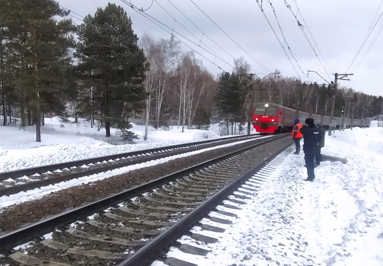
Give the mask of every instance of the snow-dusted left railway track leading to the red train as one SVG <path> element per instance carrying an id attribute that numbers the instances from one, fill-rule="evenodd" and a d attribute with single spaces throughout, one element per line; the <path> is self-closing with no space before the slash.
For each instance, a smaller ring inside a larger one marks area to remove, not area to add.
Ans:
<path id="1" fill-rule="evenodd" d="M 224 139 L 205 140 L 187 144 L 172 145 L 136 152 L 120 153 L 85 160 L 54 165 L 26 168 L 0 173 L 0 194 L 11 195 L 82 176 L 93 175 L 119 167 L 145 163 L 182 153 L 193 152 L 246 139 L 256 139 L 260 135 L 235 136 Z"/>

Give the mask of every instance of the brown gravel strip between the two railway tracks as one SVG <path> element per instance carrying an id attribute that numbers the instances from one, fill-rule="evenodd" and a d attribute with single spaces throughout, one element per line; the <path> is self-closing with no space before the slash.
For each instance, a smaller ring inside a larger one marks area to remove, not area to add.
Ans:
<path id="1" fill-rule="evenodd" d="M 282 145 L 291 141 L 289 139 L 290 138 L 283 138 L 272 143 L 277 144 L 278 147 L 282 147 Z M 265 139 L 255 139 L 243 144 L 210 150 L 190 157 L 175 159 L 167 163 L 133 170 L 93 183 L 63 189 L 38 200 L 10 206 L 2 210 L 0 230 L 1 232 L 14 230 L 27 223 L 39 221 L 49 215 L 59 214 L 69 208 L 78 207 L 84 203 L 95 201 L 113 193 L 118 193 L 123 189 L 154 180 L 160 176 L 169 175 L 175 171 L 244 149 L 263 141 L 265 141 Z M 273 146 L 275 144 L 273 144 Z"/>

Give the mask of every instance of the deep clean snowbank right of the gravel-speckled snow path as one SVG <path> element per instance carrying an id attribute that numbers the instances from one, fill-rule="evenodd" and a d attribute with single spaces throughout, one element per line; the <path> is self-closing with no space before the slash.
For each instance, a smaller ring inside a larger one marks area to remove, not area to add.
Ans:
<path id="1" fill-rule="evenodd" d="M 309 250 L 322 265 L 383 265 L 383 128 L 336 131 L 322 153 L 348 163 L 322 163 L 301 191 Z"/>

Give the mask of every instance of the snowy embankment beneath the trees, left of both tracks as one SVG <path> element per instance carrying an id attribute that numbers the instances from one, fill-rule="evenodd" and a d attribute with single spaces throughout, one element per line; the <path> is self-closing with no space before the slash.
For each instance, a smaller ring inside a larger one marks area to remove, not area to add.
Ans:
<path id="1" fill-rule="evenodd" d="M 136 143 L 112 145 L 119 143 L 115 129 L 111 129 L 112 137 L 106 138 L 105 129 L 97 131 L 97 125 L 91 128 L 90 122 L 83 119 L 75 124 L 62 123 L 53 117 L 46 118 L 45 123 L 41 127 L 41 143 L 35 142 L 34 126 L 25 130 L 18 126 L 0 127 L 0 172 L 220 138 L 210 131 L 181 132 L 177 127 L 164 131 L 149 127 L 145 141 L 144 127 L 133 124 L 131 131 L 139 137 Z"/>

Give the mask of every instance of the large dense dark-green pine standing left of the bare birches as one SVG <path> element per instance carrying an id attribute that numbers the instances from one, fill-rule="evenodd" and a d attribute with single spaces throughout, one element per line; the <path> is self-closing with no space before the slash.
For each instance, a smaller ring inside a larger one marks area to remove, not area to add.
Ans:
<path id="1" fill-rule="evenodd" d="M 124 132 L 130 127 L 128 118 L 145 99 L 142 82 L 149 65 L 131 25 L 123 8 L 109 3 L 79 26 L 77 71 L 94 88 L 93 107 L 105 122 L 106 137 L 111 124 L 129 135 Z"/>

